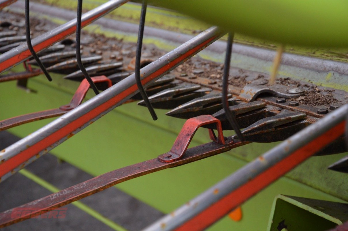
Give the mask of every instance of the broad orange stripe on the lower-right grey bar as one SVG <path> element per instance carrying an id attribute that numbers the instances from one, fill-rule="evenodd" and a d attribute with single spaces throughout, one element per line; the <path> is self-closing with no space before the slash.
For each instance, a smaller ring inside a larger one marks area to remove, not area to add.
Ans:
<path id="1" fill-rule="evenodd" d="M 223 197 L 175 231 L 204 230 L 344 133 L 345 121 Z"/>

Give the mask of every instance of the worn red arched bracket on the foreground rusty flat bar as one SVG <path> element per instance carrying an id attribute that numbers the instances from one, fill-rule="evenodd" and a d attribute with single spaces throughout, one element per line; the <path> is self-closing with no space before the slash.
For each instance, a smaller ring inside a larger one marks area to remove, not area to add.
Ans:
<path id="1" fill-rule="evenodd" d="M 221 121 L 211 115 L 201 115 L 190 118 L 187 120 L 177 136 L 171 151 L 161 154 L 158 156 L 158 160 L 161 162 L 173 162 L 181 159 L 185 154 L 193 135 L 197 129 L 206 124 L 216 123 L 216 129 L 218 136 L 216 138 L 215 133 L 212 129 L 209 129 L 209 137 L 216 143 L 225 145 L 225 140 L 222 133 Z"/>

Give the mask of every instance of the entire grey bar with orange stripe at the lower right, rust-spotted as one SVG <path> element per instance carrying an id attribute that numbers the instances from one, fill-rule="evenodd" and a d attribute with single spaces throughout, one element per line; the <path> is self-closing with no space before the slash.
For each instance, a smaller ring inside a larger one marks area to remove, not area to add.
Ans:
<path id="1" fill-rule="evenodd" d="M 348 104 L 248 163 L 143 231 L 204 230 L 344 133 Z"/>

